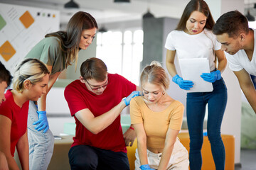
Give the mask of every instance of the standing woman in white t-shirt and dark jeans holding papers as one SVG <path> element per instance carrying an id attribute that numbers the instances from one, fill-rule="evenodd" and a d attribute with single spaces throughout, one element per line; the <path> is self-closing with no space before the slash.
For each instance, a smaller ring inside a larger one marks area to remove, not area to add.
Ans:
<path id="1" fill-rule="evenodd" d="M 193 82 L 183 80 L 176 72 L 174 58 L 178 59 L 206 58 L 210 73 L 202 73 L 201 78 L 213 84 L 213 91 L 187 93 L 186 115 L 190 136 L 189 161 L 190 169 L 201 169 L 201 148 L 203 145 L 203 120 L 208 103 L 208 139 L 216 169 L 225 167 L 225 148 L 220 136 L 220 127 L 227 103 L 227 89 L 221 77 L 227 60 L 220 50 L 212 33 L 214 25 L 210 9 L 203 0 L 191 0 L 183 11 L 176 30 L 171 31 L 166 39 L 166 67 L 173 81 L 181 89 L 189 90 Z M 218 67 L 216 65 L 216 58 Z"/>

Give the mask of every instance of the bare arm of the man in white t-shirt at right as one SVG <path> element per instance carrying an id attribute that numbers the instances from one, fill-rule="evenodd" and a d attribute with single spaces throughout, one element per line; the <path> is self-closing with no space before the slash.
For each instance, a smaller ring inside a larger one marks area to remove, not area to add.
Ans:
<path id="1" fill-rule="evenodd" d="M 253 111 L 256 113 L 256 91 L 252 84 L 250 75 L 245 71 L 245 69 L 239 72 L 234 72 L 235 76 L 238 78 L 240 87 L 247 98 L 247 101 L 252 106 Z"/>

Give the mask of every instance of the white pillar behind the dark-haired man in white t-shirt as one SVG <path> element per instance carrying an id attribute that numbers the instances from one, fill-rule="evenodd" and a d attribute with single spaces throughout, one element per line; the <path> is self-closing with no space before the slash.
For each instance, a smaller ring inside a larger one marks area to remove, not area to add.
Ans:
<path id="1" fill-rule="evenodd" d="M 206 0 L 215 21 L 228 11 L 238 10 L 244 13 L 244 0 Z M 228 88 L 228 103 L 223 118 L 221 132 L 235 136 L 235 163 L 240 163 L 241 137 L 241 90 L 235 74 L 227 68 L 223 79 Z"/>

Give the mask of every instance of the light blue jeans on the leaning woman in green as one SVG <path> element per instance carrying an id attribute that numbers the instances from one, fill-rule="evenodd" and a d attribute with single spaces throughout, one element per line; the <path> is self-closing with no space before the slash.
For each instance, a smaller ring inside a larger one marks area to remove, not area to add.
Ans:
<path id="1" fill-rule="evenodd" d="M 28 145 L 29 169 L 46 170 L 53 155 L 54 137 L 50 130 L 35 130 L 34 122 L 38 120 L 37 108 L 33 101 L 29 101 L 28 109 Z"/>

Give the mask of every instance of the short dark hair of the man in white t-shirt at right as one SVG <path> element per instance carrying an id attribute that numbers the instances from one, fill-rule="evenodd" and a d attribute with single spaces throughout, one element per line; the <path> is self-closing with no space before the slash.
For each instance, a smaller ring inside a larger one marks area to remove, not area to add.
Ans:
<path id="1" fill-rule="evenodd" d="M 249 33 L 247 18 L 238 10 L 224 13 L 213 26 L 215 35 L 227 33 L 230 38 L 237 38 L 240 33 Z"/>

